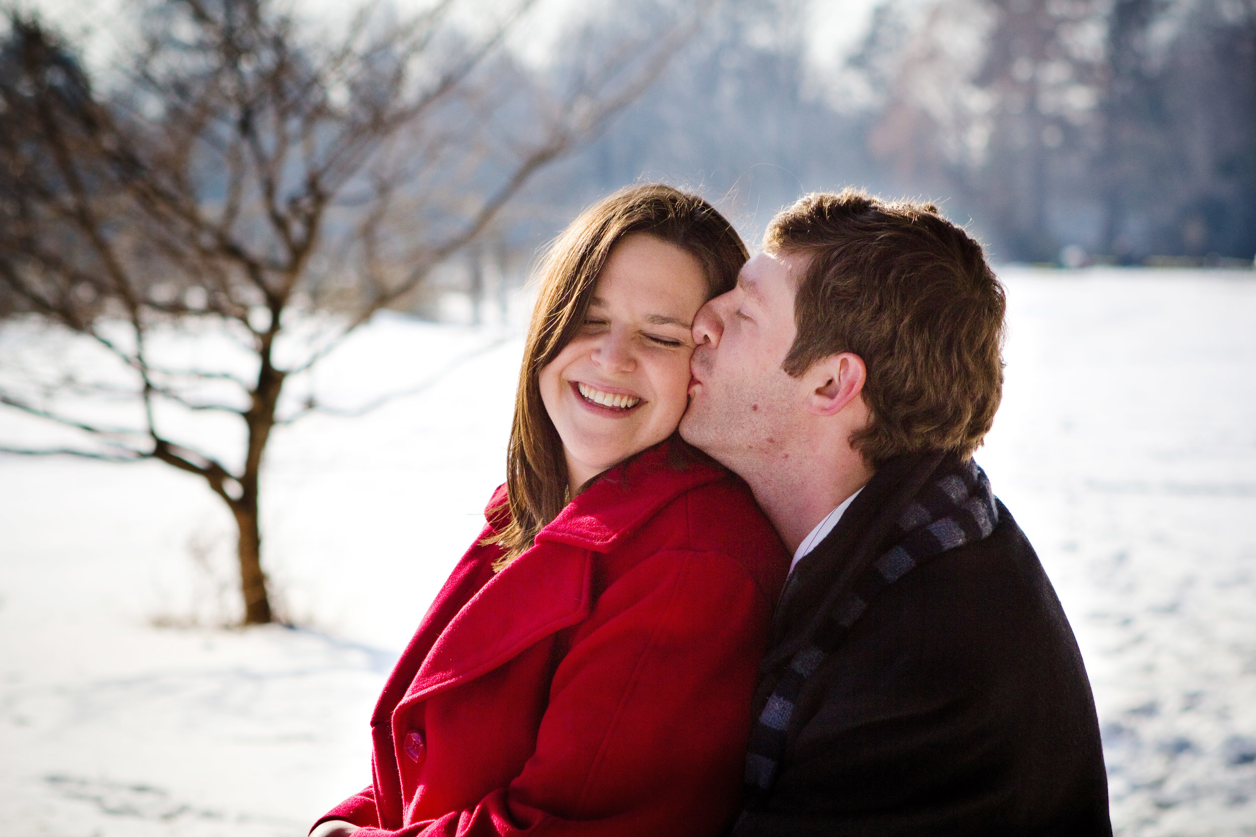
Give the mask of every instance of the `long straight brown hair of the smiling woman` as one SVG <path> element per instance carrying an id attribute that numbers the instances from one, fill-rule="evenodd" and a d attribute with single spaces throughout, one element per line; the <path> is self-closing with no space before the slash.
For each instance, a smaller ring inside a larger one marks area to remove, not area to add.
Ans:
<path id="1" fill-rule="evenodd" d="M 495 570 L 530 548 L 536 533 L 569 499 L 563 440 L 545 412 L 538 380 L 541 369 L 580 330 L 612 248 L 634 232 L 693 256 L 706 274 L 707 299 L 731 290 L 749 257 L 737 231 L 713 206 L 661 183 L 619 189 L 582 212 L 554 241 L 539 271 L 540 294 L 519 369 L 506 453 L 510 522 L 486 540 L 505 550 L 494 562 Z"/>

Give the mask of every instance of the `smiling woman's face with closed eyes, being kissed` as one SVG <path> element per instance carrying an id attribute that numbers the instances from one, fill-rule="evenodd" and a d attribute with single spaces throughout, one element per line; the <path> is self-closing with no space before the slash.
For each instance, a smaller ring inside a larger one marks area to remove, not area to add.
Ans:
<path id="1" fill-rule="evenodd" d="M 573 488 L 676 429 L 706 297 L 701 264 L 676 245 L 634 232 L 610 251 L 584 325 L 539 380 Z"/>

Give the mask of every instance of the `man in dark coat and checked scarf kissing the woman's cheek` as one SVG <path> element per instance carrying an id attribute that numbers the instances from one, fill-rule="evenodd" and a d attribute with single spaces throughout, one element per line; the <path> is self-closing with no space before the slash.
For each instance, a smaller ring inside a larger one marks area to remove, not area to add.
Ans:
<path id="1" fill-rule="evenodd" d="M 681 434 L 795 562 L 735 834 L 1110 834 L 1076 642 L 971 458 L 1002 390 L 980 245 L 932 206 L 810 195 L 693 336 Z"/>

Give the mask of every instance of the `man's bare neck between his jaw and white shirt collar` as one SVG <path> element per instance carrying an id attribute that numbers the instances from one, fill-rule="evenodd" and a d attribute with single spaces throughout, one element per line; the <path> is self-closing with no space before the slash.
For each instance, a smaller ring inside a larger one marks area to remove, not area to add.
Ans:
<path id="1" fill-rule="evenodd" d="M 790 552 L 829 512 L 868 484 L 874 473 L 863 457 L 849 449 L 838 457 L 794 461 L 798 464 L 793 468 L 775 466 L 741 473 Z"/>

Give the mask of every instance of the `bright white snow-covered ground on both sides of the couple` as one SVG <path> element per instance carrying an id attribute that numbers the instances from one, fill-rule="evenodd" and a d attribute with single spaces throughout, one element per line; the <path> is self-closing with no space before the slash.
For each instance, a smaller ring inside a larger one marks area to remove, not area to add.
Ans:
<path id="1" fill-rule="evenodd" d="M 1004 271 L 978 462 L 1094 684 L 1117 831 L 1256 834 L 1256 275 Z M 158 463 L 0 457 L 0 833 L 300 837 L 369 779 L 392 660 L 504 473 L 517 339 L 388 317 L 279 434 L 266 560 L 300 629 L 221 630 L 230 530 Z M 29 339 L 0 329 L 0 368 Z M 0 439 L 15 432 L 0 412 Z"/>

